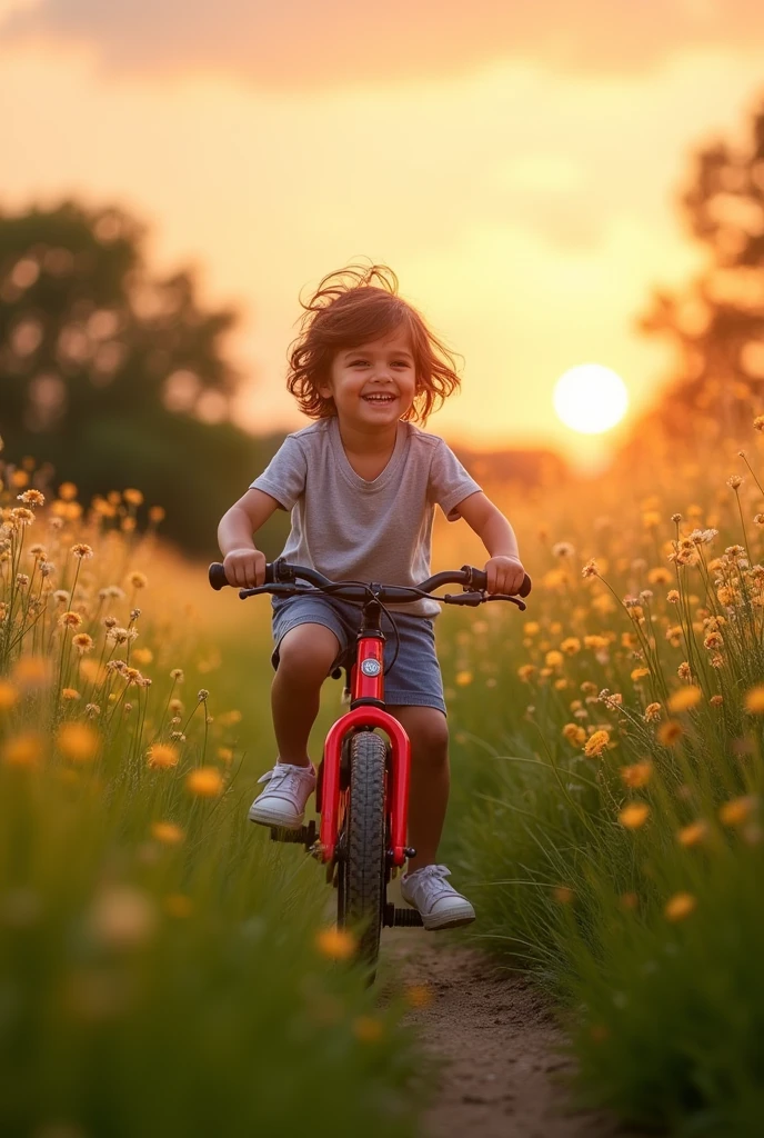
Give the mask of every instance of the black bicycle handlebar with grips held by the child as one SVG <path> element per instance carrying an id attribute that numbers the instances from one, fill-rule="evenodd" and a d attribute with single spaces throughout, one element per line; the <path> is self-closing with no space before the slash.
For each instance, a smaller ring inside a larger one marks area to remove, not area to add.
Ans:
<path id="1" fill-rule="evenodd" d="M 525 574 L 517 596 L 508 596 L 504 593 L 485 594 L 488 574 L 483 569 L 476 569 L 474 566 L 462 566 L 460 569 L 448 569 L 443 572 L 437 572 L 432 577 L 427 577 L 421 585 L 415 585 L 410 588 L 400 585 L 381 585 L 375 582 L 371 582 L 368 585 L 360 582 L 333 582 L 329 577 L 324 577 L 316 569 L 307 566 L 290 564 L 288 561 L 279 559 L 277 561 L 269 561 L 266 564 L 265 584 L 258 585 L 256 588 L 240 588 L 239 596 L 243 601 L 246 597 L 254 596 L 257 593 L 271 593 L 275 596 L 293 596 L 298 593 L 310 592 L 312 589 L 302 588 L 297 584 L 298 578 L 308 582 L 309 585 L 321 592 L 330 593 L 340 600 L 348 601 L 367 600 L 371 588 L 374 595 L 383 603 L 385 601 L 388 603 L 418 601 L 423 594 L 432 594 L 433 589 L 440 588 L 441 585 L 455 584 L 462 585 L 464 592 L 460 594 L 446 593 L 443 596 L 433 597 L 433 600 L 442 601 L 446 604 L 468 605 L 482 604 L 484 601 L 512 601 L 521 610 L 525 609 L 525 604 L 520 597 L 528 596 L 532 587 L 531 578 Z M 225 588 L 229 584 L 225 569 L 219 561 L 214 561 L 209 567 L 209 584 L 216 591 Z"/>

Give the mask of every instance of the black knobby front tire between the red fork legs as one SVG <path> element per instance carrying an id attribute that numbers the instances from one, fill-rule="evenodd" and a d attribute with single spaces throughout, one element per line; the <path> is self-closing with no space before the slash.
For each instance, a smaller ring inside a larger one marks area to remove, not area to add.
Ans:
<path id="1" fill-rule="evenodd" d="M 350 787 L 340 865 L 338 925 L 358 935 L 358 957 L 374 968 L 380 954 L 385 887 L 384 774 L 387 744 L 363 731 L 350 742 Z"/>

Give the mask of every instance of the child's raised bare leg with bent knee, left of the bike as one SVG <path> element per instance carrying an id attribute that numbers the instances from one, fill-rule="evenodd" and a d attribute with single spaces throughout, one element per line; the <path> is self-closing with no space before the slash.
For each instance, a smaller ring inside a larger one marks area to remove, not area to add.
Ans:
<path id="1" fill-rule="evenodd" d="M 280 762 L 309 766 L 308 735 L 318 715 L 322 684 L 339 651 L 337 636 L 324 625 L 297 625 L 282 637 L 271 688 Z"/>

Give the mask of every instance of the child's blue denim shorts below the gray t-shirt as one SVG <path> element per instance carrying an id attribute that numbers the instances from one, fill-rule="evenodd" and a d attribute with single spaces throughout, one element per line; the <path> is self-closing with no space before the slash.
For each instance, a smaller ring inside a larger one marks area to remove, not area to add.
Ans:
<path id="1" fill-rule="evenodd" d="M 282 637 L 298 625 L 324 625 L 340 642 L 340 651 L 330 671 L 338 667 L 349 667 L 356 657 L 356 636 L 360 627 L 363 609 L 360 603 L 339 601 L 324 596 L 274 596 L 273 640 L 275 648 L 271 662 L 279 666 L 279 645 Z M 384 643 L 384 702 L 391 706 L 438 708 L 446 715 L 443 681 L 435 654 L 435 629 L 432 617 L 418 617 L 410 612 L 390 613 L 396 622 L 400 645 L 396 661 L 390 662 L 396 651 L 396 634 L 390 619 L 382 613 L 381 628 Z"/>

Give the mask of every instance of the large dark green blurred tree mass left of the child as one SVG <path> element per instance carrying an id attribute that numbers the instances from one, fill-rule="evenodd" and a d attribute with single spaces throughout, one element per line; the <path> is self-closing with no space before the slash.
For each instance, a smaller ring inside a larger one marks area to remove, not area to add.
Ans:
<path id="1" fill-rule="evenodd" d="M 241 377 L 222 340 L 236 314 L 202 308 L 189 271 L 151 275 L 143 238 L 111 207 L 0 214 L 5 457 L 45 462 L 85 498 L 136 487 L 165 506 L 169 537 L 207 555 L 280 436 L 230 421 Z"/>

